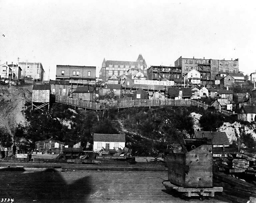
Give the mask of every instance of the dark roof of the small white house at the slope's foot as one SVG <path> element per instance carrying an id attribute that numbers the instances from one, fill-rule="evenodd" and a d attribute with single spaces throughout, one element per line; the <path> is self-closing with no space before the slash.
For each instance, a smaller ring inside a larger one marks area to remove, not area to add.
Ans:
<path id="1" fill-rule="evenodd" d="M 93 141 L 94 142 L 125 142 L 125 135 L 124 134 L 93 134 Z"/>

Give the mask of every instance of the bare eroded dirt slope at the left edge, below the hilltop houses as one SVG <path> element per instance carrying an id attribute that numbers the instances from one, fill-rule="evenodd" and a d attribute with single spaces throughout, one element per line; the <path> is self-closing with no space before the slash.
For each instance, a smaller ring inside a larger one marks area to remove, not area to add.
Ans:
<path id="1" fill-rule="evenodd" d="M 0 132 L 13 137 L 18 124 L 27 125 L 23 110 L 32 99 L 32 85 L 0 85 Z"/>

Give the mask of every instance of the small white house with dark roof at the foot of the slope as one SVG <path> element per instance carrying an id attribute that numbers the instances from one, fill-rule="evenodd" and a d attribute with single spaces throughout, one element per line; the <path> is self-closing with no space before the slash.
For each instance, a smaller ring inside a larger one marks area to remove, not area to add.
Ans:
<path id="1" fill-rule="evenodd" d="M 93 134 L 93 151 L 125 147 L 124 134 Z"/>

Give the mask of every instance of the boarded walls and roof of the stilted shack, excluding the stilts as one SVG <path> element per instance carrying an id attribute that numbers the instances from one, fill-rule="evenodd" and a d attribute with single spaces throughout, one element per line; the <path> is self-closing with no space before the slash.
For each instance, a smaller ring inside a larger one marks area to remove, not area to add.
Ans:
<path id="1" fill-rule="evenodd" d="M 50 85 L 33 85 L 32 102 L 46 103 L 50 101 Z"/>

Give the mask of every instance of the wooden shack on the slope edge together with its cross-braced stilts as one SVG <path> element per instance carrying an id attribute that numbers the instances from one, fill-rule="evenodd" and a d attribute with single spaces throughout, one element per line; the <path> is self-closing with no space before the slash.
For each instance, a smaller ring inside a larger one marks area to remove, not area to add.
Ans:
<path id="1" fill-rule="evenodd" d="M 50 85 L 33 85 L 32 88 L 32 110 L 40 109 L 43 111 L 42 107 L 48 105 L 50 102 Z"/>

